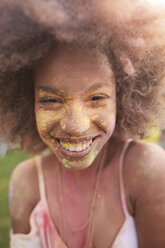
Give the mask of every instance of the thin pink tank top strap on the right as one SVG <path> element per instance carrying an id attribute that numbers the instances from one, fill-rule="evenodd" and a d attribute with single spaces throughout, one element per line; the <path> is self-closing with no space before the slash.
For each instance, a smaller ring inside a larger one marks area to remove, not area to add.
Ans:
<path id="1" fill-rule="evenodd" d="M 129 144 L 131 143 L 132 139 L 128 139 L 123 146 L 120 158 L 119 158 L 119 184 L 120 184 L 120 197 L 121 197 L 121 203 L 122 208 L 124 211 L 125 216 L 128 216 L 128 209 L 127 209 L 127 203 L 126 203 L 126 194 L 125 194 L 125 188 L 124 188 L 124 182 L 123 182 L 123 161 L 125 154 L 127 152 L 127 149 L 129 147 Z"/>

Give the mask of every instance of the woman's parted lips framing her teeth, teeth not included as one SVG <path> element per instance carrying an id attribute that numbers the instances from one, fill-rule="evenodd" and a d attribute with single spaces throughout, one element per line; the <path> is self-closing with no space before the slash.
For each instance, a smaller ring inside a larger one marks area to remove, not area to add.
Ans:
<path id="1" fill-rule="evenodd" d="M 60 145 L 60 143 L 57 141 L 57 139 L 55 139 L 55 143 L 56 143 L 56 145 L 57 145 L 57 147 L 59 148 L 59 150 L 60 150 L 60 152 L 63 154 L 63 155 L 65 155 L 65 156 L 68 156 L 68 157 L 71 157 L 71 158 L 82 158 L 82 157 L 84 157 L 84 156 L 87 156 L 90 152 L 91 152 L 91 150 L 93 149 L 93 147 L 94 147 L 94 145 L 95 145 L 95 143 L 96 143 L 96 141 L 97 141 L 97 139 L 100 137 L 100 135 L 98 135 L 98 136 L 95 136 L 94 138 L 93 138 L 93 141 L 92 141 L 92 144 L 87 148 L 87 149 L 85 149 L 84 151 L 79 151 L 79 152 L 71 152 L 71 151 L 68 151 L 68 150 L 66 150 L 66 149 L 64 149 L 61 145 Z M 63 141 L 62 139 L 60 139 L 61 141 Z M 71 140 L 71 139 L 69 139 L 70 141 L 72 141 L 72 143 L 78 143 L 78 142 L 73 142 L 73 140 Z M 82 140 L 82 139 L 81 139 Z M 91 140 L 91 139 L 85 139 L 85 141 L 89 141 L 89 140 Z M 65 141 L 66 141 L 66 139 L 65 139 Z M 79 139 L 79 142 L 80 142 L 80 139 Z M 83 143 L 83 142 L 82 142 Z"/>

